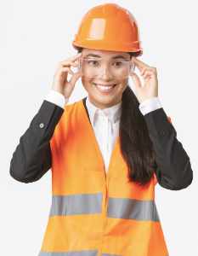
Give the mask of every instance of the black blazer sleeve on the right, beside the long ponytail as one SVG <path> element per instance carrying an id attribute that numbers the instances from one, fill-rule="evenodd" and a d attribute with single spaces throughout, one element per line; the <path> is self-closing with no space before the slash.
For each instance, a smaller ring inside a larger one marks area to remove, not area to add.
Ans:
<path id="1" fill-rule="evenodd" d="M 184 189 L 192 183 L 190 157 L 178 141 L 177 131 L 163 108 L 144 115 L 156 156 L 157 182 L 165 189 Z"/>

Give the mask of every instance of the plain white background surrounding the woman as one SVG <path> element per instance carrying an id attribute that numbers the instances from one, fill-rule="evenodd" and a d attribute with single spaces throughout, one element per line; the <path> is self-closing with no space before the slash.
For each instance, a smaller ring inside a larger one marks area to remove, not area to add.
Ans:
<path id="1" fill-rule="evenodd" d="M 71 42 L 82 16 L 105 1 L 1 1 L 0 9 L 0 254 L 36 256 L 48 222 L 51 172 L 35 183 L 9 176 L 20 136 L 51 89 L 59 61 L 76 55 Z M 170 256 L 198 255 L 197 6 L 196 1 L 111 1 L 139 24 L 141 61 L 157 68 L 159 97 L 190 156 L 193 183 L 156 186 L 156 205 Z M 133 83 L 132 80 L 129 80 Z M 78 80 L 70 102 L 86 96 Z M 150 255 L 151 256 L 151 255 Z M 159 255 L 160 256 L 160 255 Z"/>

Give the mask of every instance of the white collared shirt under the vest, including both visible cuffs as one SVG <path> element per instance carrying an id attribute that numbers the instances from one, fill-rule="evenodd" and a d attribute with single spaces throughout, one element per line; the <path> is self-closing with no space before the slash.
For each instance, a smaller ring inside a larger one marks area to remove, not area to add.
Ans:
<path id="1" fill-rule="evenodd" d="M 50 90 L 44 99 L 48 102 L 53 102 L 60 108 L 64 108 L 65 104 L 69 102 L 69 99 L 65 99 L 65 96 L 56 90 Z M 90 102 L 89 97 L 86 99 L 91 125 L 103 156 L 105 172 L 108 171 L 110 155 L 114 148 L 116 137 L 119 134 L 121 104 L 122 102 L 119 102 L 110 108 L 99 109 Z M 150 98 L 139 104 L 139 110 L 143 115 L 157 108 L 161 108 L 161 102 L 158 97 Z"/>

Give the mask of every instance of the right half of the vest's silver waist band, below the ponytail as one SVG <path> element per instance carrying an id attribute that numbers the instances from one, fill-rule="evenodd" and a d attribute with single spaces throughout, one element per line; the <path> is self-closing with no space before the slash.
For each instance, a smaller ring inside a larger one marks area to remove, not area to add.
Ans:
<path id="1" fill-rule="evenodd" d="M 107 216 L 109 218 L 160 221 L 155 201 L 139 201 L 127 198 L 110 197 Z"/>

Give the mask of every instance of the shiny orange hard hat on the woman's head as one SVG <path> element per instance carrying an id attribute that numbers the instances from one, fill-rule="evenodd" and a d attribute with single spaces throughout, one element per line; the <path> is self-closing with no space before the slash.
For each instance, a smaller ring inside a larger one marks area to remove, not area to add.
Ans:
<path id="1" fill-rule="evenodd" d="M 106 49 L 142 55 L 139 29 L 133 15 L 116 3 L 93 7 L 82 18 L 72 42 L 75 49 Z"/>

